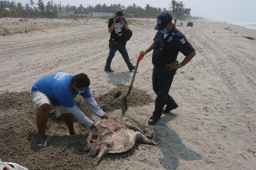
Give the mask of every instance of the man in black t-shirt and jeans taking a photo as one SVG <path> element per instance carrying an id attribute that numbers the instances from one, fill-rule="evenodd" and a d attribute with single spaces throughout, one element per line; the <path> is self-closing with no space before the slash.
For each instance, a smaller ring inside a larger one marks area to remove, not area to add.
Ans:
<path id="1" fill-rule="evenodd" d="M 122 11 L 118 11 L 116 12 L 116 17 L 111 18 L 108 22 L 108 32 L 111 34 L 109 39 L 109 54 L 105 65 L 105 71 L 113 72 L 110 66 L 117 50 L 122 54 L 129 71 L 135 69 L 135 66 L 130 62 L 128 52 L 125 48 L 126 44 L 122 40 L 123 29 L 129 30 L 129 27 L 125 21 L 125 18 L 123 17 Z"/>

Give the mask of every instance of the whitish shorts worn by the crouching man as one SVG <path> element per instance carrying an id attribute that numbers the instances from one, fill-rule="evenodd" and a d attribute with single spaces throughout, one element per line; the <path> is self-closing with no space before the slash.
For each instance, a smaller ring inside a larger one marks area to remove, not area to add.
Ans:
<path id="1" fill-rule="evenodd" d="M 65 113 L 69 113 L 69 111 L 64 106 L 53 106 L 51 99 L 41 91 L 35 91 L 34 93 L 31 94 L 31 96 L 33 99 L 33 106 L 34 106 L 35 110 L 38 110 L 38 108 L 41 105 L 46 103 L 46 104 L 50 105 L 50 107 L 52 109 L 54 109 L 56 117 L 59 117 Z"/>

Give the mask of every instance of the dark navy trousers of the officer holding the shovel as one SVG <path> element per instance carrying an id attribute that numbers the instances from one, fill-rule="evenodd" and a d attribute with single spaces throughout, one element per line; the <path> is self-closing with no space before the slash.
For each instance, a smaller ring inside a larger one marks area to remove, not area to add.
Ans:
<path id="1" fill-rule="evenodd" d="M 155 100 L 155 109 L 153 112 L 153 116 L 155 118 L 162 116 L 165 105 L 172 105 L 175 103 L 172 96 L 168 94 L 175 74 L 176 70 L 170 71 L 166 67 L 153 69 L 152 84 L 153 90 L 155 94 L 157 94 Z"/>

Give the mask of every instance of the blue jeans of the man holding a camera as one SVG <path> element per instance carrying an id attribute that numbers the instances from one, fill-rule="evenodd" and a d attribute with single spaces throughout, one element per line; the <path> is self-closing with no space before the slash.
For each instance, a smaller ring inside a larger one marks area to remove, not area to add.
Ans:
<path id="1" fill-rule="evenodd" d="M 127 64 L 128 69 L 133 68 L 133 65 L 131 64 L 128 56 L 128 52 L 125 48 L 125 44 L 122 42 L 109 42 L 109 54 L 108 54 L 105 68 L 110 68 L 112 59 L 114 58 L 116 51 L 119 51 L 122 54 L 122 57 L 125 60 L 125 63 Z"/>

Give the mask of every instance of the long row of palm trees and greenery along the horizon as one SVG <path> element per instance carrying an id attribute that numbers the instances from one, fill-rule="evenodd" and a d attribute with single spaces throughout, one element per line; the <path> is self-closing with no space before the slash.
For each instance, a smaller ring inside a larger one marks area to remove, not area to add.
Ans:
<path id="1" fill-rule="evenodd" d="M 0 15 L 18 15 L 18 14 L 37 14 L 37 15 L 52 15 L 57 16 L 58 12 L 68 13 L 73 11 L 74 14 L 89 14 L 90 12 L 108 12 L 116 13 L 116 11 L 123 11 L 125 17 L 141 17 L 141 18 L 156 18 L 158 14 L 163 11 L 170 12 L 173 17 L 176 17 L 180 20 L 191 19 L 190 8 L 185 8 L 183 1 L 172 0 L 169 4 L 169 8 L 157 8 L 152 7 L 148 4 L 143 8 L 137 6 L 135 3 L 129 6 L 124 6 L 119 4 L 111 4 L 107 6 L 104 4 L 97 4 L 95 6 L 88 5 L 84 7 L 83 4 L 77 6 L 60 6 L 60 4 L 55 4 L 51 1 L 48 1 L 46 4 L 43 0 L 38 0 L 35 3 L 33 0 L 28 0 L 29 3 L 26 3 L 24 6 L 21 3 L 15 3 L 15 1 L 9 0 L 0 0 Z M 75 17 L 75 16 L 74 16 Z M 76 16 L 78 17 L 78 15 Z M 193 18 L 197 19 L 197 18 Z"/>

